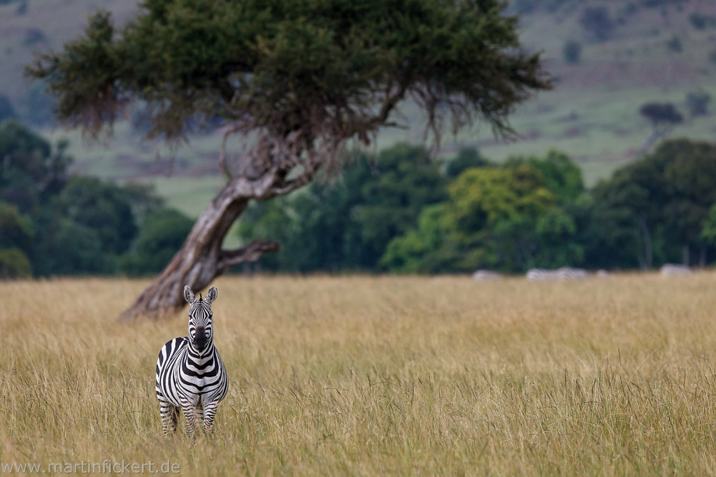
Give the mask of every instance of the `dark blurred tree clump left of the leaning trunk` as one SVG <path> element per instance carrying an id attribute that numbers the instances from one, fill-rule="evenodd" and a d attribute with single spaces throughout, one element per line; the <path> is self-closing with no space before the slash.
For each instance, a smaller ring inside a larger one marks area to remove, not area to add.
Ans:
<path id="1" fill-rule="evenodd" d="M 0 123 L 0 277 L 160 271 L 193 221 L 145 186 L 69 174 L 66 148 Z"/>

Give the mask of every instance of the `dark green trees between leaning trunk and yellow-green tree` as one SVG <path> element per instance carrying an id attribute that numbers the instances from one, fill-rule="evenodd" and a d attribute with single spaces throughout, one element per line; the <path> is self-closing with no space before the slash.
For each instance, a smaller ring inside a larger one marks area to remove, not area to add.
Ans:
<path id="1" fill-rule="evenodd" d="M 359 155 L 334 183 L 254 204 L 239 233 L 281 243 L 278 254 L 261 259 L 267 269 L 374 270 L 388 242 L 424 206 L 445 198 L 445 184 L 425 148 L 396 145 L 377 157 Z"/>

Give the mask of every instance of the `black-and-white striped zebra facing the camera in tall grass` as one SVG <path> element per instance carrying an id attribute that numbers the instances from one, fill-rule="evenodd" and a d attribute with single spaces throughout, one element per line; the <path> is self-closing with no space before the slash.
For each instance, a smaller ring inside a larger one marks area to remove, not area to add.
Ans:
<path id="1" fill-rule="evenodd" d="M 213 434 L 218 403 L 226 396 L 226 368 L 213 344 L 211 303 L 216 286 L 206 298 L 197 299 L 189 286 L 184 298 L 189 302 L 189 335 L 166 342 L 157 359 L 157 399 L 164 435 L 176 430 L 179 410 L 183 410 L 186 433 L 194 440 L 194 420 L 203 420 L 205 433 Z"/>

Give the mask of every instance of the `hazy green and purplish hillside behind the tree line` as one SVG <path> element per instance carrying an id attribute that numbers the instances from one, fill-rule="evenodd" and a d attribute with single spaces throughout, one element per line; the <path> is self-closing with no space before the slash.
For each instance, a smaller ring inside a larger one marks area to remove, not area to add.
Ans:
<path id="1" fill-rule="evenodd" d="M 587 183 L 594 184 L 639 155 L 651 130 L 639 115 L 645 102 L 673 102 L 682 112 L 685 121 L 670 137 L 711 140 L 716 133 L 712 114 L 692 117 L 685 100 L 696 91 L 716 97 L 716 2 L 615 3 L 514 1 L 511 9 L 522 12 L 523 42 L 544 52 L 556 87 L 516 110 L 516 138 L 496 140 L 489 128 L 476 125 L 457 138 L 445 138 L 442 155 L 474 145 L 487 157 L 502 160 L 557 148 L 571 155 Z M 54 140 L 69 138 L 77 170 L 116 180 L 149 180 L 170 203 L 195 215 L 221 186 L 216 175 L 220 133 L 191 138 L 190 145 L 168 150 L 142 141 L 130 122 L 123 122 L 105 145 L 85 145 L 78 133 L 52 127 L 41 85 L 30 84 L 22 75 L 34 52 L 61 48 L 82 32 L 87 15 L 97 8 L 112 11 L 117 22 L 137 10 L 133 2 L 121 0 L 0 1 L 0 95 L 9 98 L 21 120 Z M 589 23 L 587 9 L 592 9 L 591 29 L 584 26 Z M 606 12 L 606 23 L 594 19 L 598 9 Z M 570 41 L 580 50 L 576 57 L 573 52 L 572 62 L 563 52 Z M 379 147 L 422 140 L 419 112 L 410 104 L 402 112 L 409 127 L 385 130 Z M 175 177 L 168 178 L 169 173 Z"/>

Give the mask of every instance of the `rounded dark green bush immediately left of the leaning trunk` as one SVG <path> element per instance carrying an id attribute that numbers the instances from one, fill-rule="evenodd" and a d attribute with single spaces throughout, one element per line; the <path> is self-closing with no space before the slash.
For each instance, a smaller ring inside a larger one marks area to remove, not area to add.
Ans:
<path id="1" fill-rule="evenodd" d="M 120 259 L 120 270 L 127 275 L 156 274 L 181 248 L 194 221 L 172 208 L 159 208 L 148 214 L 130 253 Z"/>

